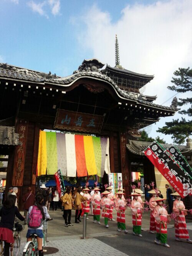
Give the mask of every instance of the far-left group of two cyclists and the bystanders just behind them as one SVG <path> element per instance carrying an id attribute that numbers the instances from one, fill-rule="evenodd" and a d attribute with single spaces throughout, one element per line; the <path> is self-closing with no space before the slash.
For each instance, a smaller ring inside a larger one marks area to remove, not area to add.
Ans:
<path id="1" fill-rule="evenodd" d="M 3 255 L 10 255 L 10 244 L 14 243 L 13 227 L 16 216 L 20 221 L 24 221 L 24 224 L 28 224 L 27 242 L 32 240 L 33 234 L 37 235 L 38 255 L 43 256 L 43 221 L 50 219 L 48 209 L 45 206 L 45 204 L 48 206 L 49 198 L 45 197 L 43 190 L 37 191 L 36 196 L 34 196 L 31 188 L 28 188 L 27 193 L 22 198 L 24 203 L 24 215 L 22 216 L 17 207 L 17 193 L 18 188 L 10 187 L 0 209 L 0 240 L 4 241 Z"/>

